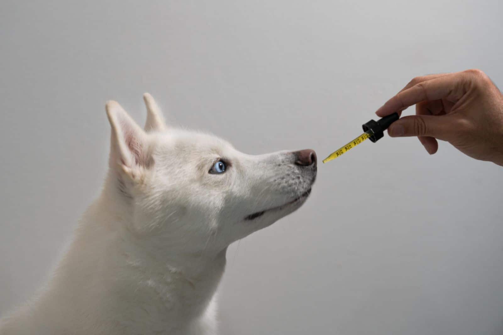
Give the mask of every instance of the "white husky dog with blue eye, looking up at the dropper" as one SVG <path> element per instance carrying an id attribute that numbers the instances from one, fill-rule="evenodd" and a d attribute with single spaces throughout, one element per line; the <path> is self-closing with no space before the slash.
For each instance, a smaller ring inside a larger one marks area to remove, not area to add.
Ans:
<path id="1" fill-rule="evenodd" d="M 144 130 L 115 101 L 109 173 L 47 285 L 0 334 L 215 334 L 227 246 L 292 213 L 313 150 L 247 155 L 167 128 L 144 95 Z"/>

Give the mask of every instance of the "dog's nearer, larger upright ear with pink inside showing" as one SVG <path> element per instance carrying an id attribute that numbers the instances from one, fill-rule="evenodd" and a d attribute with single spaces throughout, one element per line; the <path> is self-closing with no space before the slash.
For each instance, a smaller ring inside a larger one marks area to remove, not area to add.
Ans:
<path id="1" fill-rule="evenodd" d="M 147 150 L 147 134 L 116 101 L 106 105 L 108 120 L 112 126 L 110 167 L 133 180 L 142 168 L 151 163 Z"/>

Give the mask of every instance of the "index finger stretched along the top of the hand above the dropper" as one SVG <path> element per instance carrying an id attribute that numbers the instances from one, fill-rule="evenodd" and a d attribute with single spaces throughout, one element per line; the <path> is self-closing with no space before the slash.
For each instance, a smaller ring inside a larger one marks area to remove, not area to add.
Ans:
<path id="1" fill-rule="evenodd" d="M 386 101 L 376 111 L 376 114 L 379 117 L 383 117 L 421 101 L 439 100 L 442 98 L 449 100 L 453 98 L 459 99 L 465 93 L 463 89 L 465 82 L 463 73 L 458 72 L 417 83 L 398 92 L 394 97 Z"/>

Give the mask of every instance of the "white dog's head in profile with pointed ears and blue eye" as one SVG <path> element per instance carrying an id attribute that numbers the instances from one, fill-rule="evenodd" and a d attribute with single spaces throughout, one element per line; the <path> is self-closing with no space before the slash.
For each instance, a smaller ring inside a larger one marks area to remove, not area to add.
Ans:
<path id="1" fill-rule="evenodd" d="M 168 128 L 144 95 L 140 128 L 115 101 L 109 186 L 138 236 L 177 252 L 223 250 L 306 201 L 316 178 L 313 150 L 248 155 L 208 134 Z"/>

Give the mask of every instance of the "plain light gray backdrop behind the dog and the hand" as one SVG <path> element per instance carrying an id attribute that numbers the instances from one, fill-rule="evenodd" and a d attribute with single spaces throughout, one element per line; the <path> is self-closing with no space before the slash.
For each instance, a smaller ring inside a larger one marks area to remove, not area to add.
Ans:
<path id="1" fill-rule="evenodd" d="M 148 91 L 173 125 L 323 158 L 416 75 L 480 68 L 501 87 L 502 6 L 3 0 L 0 313 L 99 192 L 106 100 L 143 123 Z M 303 208 L 229 248 L 223 334 L 503 333 L 503 168 L 385 137 L 318 176 Z"/>

